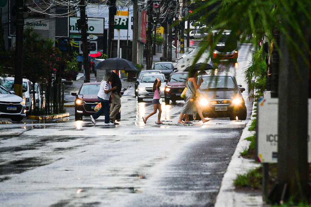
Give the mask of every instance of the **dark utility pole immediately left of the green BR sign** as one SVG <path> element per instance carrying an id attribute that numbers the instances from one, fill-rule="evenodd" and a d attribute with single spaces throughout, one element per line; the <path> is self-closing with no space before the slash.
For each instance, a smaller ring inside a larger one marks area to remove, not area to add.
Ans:
<path id="1" fill-rule="evenodd" d="M 114 39 L 114 15 L 116 15 L 116 0 L 110 0 L 109 4 L 109 28 L 108 28 L 108 44 L 107 44 L 107 56 L 112 57 L 112 41 Z"/>

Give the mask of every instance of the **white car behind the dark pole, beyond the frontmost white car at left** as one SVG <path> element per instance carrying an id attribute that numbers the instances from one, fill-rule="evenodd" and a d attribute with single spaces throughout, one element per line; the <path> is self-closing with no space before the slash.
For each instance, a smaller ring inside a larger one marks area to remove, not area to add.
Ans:
<path id="1" fill-rule="evenodd" d="M 6 77 L 5 79 L 2 79 L 3 86 L 6 87 L 8 90 L 11 91 L 11 93 L 14 92 L 14 78 L 13 77 Z M 23 78 L 23 99 L 26 102 L 26 113 L 30 113 L 30 111 L 34 108 L 32 105 L 33 102 L 33 95 L 31 91 L 33 90 L 32 84 L 28 79 Z"/>

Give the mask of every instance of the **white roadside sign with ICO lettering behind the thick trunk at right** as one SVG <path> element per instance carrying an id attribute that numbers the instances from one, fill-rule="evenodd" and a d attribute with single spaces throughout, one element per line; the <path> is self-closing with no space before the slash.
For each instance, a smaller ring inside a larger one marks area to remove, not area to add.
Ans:
<path id="1" fill-rule="evenodd" d="M 311 134 L 311 99 L 309 99 L 308 134 Z M 258 101 L 257 156 L 261 163 L 277 163 L 278 99 L 271 98 L 271 91 L 265 91 Z M 294 141 L 294 140 L 293 140 Z M 308 162 L 311 163 L 311 142 L 308 139 Z M 290 152 L 289 152 L 290 153 Z"/>

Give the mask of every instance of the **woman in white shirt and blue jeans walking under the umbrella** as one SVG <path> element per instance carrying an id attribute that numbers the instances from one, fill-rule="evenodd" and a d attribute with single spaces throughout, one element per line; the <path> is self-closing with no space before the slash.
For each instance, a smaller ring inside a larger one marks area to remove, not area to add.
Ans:
<path id="1" fill-rule="evenodd" d="M 111 85 L 109 84 L 109 81 L 111 81 L 111 72 L 108 72 L 104 75 L 103 80 L 100 83 L 100 90 L 97 94 L 98 99 L 101 104 L 100 110 L 95 113 L 94 115 L 91 115 L 91 120 L 93 124 L 95 124 L 95 119 L 100 117 L 103 113 L 105 114 L 105 123 L 104 125 L 114 125 L 114 123 L 110 122 L 109 117 L 109 98 L 111 96 L 111 91 L 115 90 L 117 86 L 111 88 Z"/>

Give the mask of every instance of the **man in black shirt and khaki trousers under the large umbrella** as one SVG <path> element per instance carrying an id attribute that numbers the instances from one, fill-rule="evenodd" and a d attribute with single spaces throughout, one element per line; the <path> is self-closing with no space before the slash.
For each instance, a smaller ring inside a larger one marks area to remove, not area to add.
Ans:
<path id="1" fill-rule="evenodd" d="M 116 121 L 116 116 L 118 115 L 120 108 L 121 108 L 121 88 L 122 88 L 122 83 L 121 79 L 119 78 L 117 74 L 117 70 L 113 70 L 111 73 L 112 76 L 112 81 L 111 81 L 111 87 L 113 88 L 114 86 L 117 87 L 116 90 L 112 91 L 112 103 L 110 104 L 110 119 L 111 122 L 114 124 L 119 124 Z"/>

